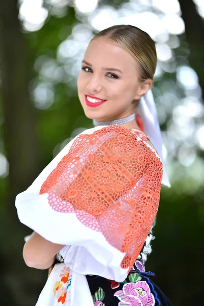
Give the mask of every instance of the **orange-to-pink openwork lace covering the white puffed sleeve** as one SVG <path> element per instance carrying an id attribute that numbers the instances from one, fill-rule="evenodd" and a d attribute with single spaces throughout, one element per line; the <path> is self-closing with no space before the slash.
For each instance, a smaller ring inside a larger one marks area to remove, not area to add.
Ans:
<path id="1" fill-rule="evenodd" d="M 75 213 L 124 252 L 121 267 L 129 270 L 156 217 L 162 181 L 160 158 L 138 135 L 114 125 L 79 135 L 40 190 L 55 211 Z"/>

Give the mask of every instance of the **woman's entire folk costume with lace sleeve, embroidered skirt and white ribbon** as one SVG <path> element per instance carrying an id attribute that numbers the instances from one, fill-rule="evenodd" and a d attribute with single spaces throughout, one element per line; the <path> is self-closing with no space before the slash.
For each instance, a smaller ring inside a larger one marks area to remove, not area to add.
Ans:
<path id="1" fill-rule="evenodd" d="M 17 195 L 20 221 L 65 245 L 37 306 L 171 305 L 144 267 L 161 184 L 170 187 L 156 107 L 146 98 L 140 130 L 84 131 Z"/>

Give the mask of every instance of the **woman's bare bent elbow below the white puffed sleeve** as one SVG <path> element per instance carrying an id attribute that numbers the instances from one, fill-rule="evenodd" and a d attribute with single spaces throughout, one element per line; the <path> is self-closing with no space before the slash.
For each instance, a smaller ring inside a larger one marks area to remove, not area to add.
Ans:
<path id="1" fill-rule="evenodd" d="M 23 247 L 23 259 L 27 266 L 36 269 L 48 269 L 55 260 L 55 255 L 64 245 L 52 243 L 33 232 Z"/>

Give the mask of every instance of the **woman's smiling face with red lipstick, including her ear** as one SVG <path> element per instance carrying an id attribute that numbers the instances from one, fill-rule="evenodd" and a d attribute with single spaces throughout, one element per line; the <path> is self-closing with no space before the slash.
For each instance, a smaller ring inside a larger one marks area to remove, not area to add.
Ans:
<path id="1" fill-rule="evenodd" d="M 109 121 L 133 114 L 133 100 L 147 91 L 139 75 L 139 63 L 117 43 L 105 37 L 92 40 L 78 78 L 78 94 L 85 115 Z"/>

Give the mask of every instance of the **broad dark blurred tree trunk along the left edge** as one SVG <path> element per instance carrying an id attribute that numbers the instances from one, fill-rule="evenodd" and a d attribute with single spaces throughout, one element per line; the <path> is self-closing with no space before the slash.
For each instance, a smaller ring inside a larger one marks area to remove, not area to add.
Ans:
<path id="1" fill-rule="evenodd" d="M 42 274 L 27 268 L 23 262 L 22 233 L 28 232 L 20 224 L 14 206 L 16 194 L 28 188 L 39 173 L 35 109 L 28 90 L 29 68 L 18 20 L 17 0 L 0 1 L 0 57 L 4 141 L 9 161 L 8 200 L 0 224 L 0 304 L 34 305 L 36 299 L 32 297 L 31 286 L 41 286 L 37 282 Z M 31 278 L 29 282 L 28 278 Z M 24 298 L 28 291 L 31 292 L 29 300 L 28 293 L 27 299 Z"/>

